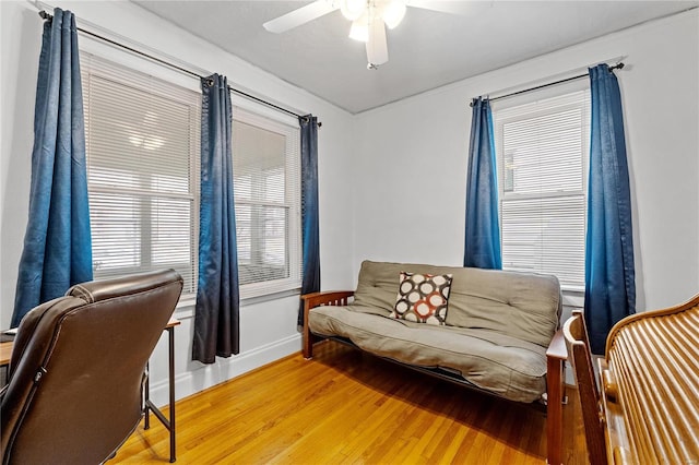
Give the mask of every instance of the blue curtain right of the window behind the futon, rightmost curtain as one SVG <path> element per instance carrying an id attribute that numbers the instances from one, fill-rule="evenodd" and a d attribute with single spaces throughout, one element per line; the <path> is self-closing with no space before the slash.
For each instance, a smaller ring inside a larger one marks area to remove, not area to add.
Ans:
<path id="1" fill-rule="evenodd" d="M 590 69 L 592 126 L 585 237 L 585 323 L 594 354 L 612 326 L 636 311 L 631 194 L 619 84 L 606 64 Z"/>

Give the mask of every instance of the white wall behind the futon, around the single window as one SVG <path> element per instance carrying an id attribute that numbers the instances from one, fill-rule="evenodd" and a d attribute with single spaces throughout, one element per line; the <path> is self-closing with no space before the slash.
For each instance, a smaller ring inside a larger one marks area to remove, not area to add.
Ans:
<path id="1" fill-rule="evenodd" d="M 699 293 L 699 12 L 692 10 L 359 115 L 354 267 L 463 263 L 471 98 L 624 56 L 638 309 Z M 487 47 L 487 39 L 483 44 Z"/>

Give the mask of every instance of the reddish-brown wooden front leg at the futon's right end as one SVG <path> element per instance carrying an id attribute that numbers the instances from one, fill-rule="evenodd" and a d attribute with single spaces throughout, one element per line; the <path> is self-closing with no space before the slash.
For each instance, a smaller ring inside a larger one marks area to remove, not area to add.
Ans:
<path id="1" fill-rule="evenodd" d="M 546 463 L 548 465 L 559 465 L 564 458 L 564 363 L 561 359 L 547 358 Z"/>

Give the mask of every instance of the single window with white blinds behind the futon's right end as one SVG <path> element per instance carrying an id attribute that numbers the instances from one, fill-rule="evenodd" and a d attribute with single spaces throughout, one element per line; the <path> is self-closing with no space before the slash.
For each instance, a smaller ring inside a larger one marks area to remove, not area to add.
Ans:
<path id="1" fill-rule="evenodd" d="M 584 289 L 590 93 L 494 105 L 502 267 Z M 557 87 L 560 93 L 561 87 Z"/>

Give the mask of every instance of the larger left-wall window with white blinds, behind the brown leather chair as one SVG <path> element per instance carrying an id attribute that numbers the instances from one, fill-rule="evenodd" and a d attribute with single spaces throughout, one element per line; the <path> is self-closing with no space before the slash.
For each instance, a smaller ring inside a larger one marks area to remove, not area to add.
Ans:
<path id="1" fill-rule="evenodd" d="M 96 278 L 198 272 L 200 94 L 82 53 Z"/>

